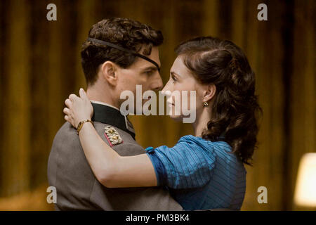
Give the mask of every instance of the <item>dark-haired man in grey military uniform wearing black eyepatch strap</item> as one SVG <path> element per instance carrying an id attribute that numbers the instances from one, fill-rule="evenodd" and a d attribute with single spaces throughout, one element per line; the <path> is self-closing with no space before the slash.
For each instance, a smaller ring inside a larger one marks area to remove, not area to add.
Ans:
<path id="1" fill-rule="evenodd" d="M 145 151 L 133 126 L 121 115 L 121 91 L 159 90 L 162 33 L 126 18 L 101 20 L 91 27 L 81 49 L 93 124 L 119 155 Z M 115 135 L 113 135 L 115 134 Z M 77 131 L 68 122 L 55 136 L 48 159 L 48 183 L 57 190 L 56 210 L 182 210 L 162 187 L 105 188 L 93 175 Z"/>

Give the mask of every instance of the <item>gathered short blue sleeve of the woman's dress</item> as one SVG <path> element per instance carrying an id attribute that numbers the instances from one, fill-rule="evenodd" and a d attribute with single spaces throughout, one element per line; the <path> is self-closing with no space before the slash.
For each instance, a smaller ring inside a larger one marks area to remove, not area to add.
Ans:
<path id="1" fill-rule="evenodd" d="M 158 185 L 170 188 L 198 188 L 213 175 L 216 155 L 213 148 L 202 148 L 190 141 L 180 141 L 173 148 L 146 148 L 157 176 Z"/>

